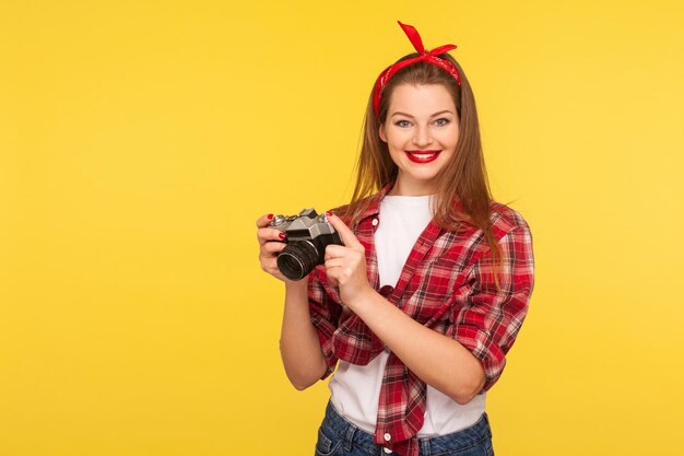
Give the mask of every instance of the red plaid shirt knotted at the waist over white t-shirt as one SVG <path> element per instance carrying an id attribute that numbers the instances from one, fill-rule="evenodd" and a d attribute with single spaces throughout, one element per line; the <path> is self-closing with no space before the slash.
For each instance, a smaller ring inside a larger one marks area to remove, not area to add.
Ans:
<path id="1" fill-rule="evenodd" d="M 432 221 L 416 241 L 396 288 L 379 288 L 374 233 L 380 200 L 391 188 L 382 188 L 353 227 L 366 249 L 368 281 L 389 302 L 422 325 L 456 339 L 482 363 L 484 390 L 496 383 L 506 364 L 506 353 L 522 325 L 533 287 L 532 237 L 519 213 L 492 202 L 492 229 L 503 259 L 499 287 L 494 282 L 490 246 L 482 230 L 461 223 L 445 231 Z M 340 301 L 323 266 L 309 276 L 311 321 L 330 375 L 338 360 L 366 365 L 385 343 Z M 382 385 L 375 442 L 393 452 L 418 455 L 415 434 L 423 426 L 425 382 L 390 353 Z M 387 437 L 390 437 L 389 440 Z"/>

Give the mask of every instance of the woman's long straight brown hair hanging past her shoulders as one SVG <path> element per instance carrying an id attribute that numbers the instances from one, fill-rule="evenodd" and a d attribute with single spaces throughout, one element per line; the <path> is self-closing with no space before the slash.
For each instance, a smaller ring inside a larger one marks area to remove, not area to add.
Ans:
<path id="1" fill-rule="evenodd" d="M 398 61 L 416 56 L 418 54 L 410 54 Z M 368 197 L 397 179 L 399 169 L 390 157 L 387 143 L 378 133 L 380 125 L 387 119 L 394 89 L 402 84 L 443 85 L 453 98 L 459 119 L 459 139 L 452 159 L 436 176 L 433 220 L 439 227 L 450 231 L 458 230 L 461 222 L 481 229 L 497 262 L 500 250 L 492 233 L 490 220 L 492 192 L 482 154 L 475 98 L 468 78 L 456 59 L 448 52 L 441 54 L 439 58 L 448 59 L 456 66 L 461 79 L 460 86 L 441 68 L 424 61 L 415 62 L 402 68 L 389 80 L 382 91 L 377 118 L 373 109 L 372 91 L 364 118 L 363 145 L 356 163 L 356 186 L 351 202 L 341 209 L 341 215 L 353 225 L 367 207 Z M 460 201 L 461 210 L 457 209 L 455 201 Z"/>

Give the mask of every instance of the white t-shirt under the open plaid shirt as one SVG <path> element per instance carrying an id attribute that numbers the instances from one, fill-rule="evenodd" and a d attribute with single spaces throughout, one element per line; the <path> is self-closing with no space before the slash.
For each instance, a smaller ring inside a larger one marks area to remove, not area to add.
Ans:
<path id="1" fill-rule="evenodd" d="M 396 287 L 411 249 L 429 221 L 431 197 L 386 196 L 380 201 L 379 224 L 374 242 L 380 287 Z M 378 401 L 389 349 L 367 365 L 340 360 L 330 379 L 331 401 L 338 412 L 372 434 L 378 416 Z M 418 437 L 445 435 L 474 424 L 484 412 L 485 395 L 464 406 L 427 385 L 423 428 Z"/>

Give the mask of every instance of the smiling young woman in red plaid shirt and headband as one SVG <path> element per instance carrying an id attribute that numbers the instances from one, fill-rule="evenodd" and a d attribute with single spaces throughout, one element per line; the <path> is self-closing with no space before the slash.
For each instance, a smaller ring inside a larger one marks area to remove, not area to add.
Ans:
<path id="1" fill-rule="evenodd" d="M 490 195 L 472 90 L 446 45 L 377 79 L 341 245 L 299 281 L 257 221 L 264 271 L 285 282 L 281 353 L 297 389 L 330 379 L 317 455 L 492 455 L 485 391 L 533 287 L 524 220 Z M 275 241 L 275 242 L 274 242 Z M 335 371 L 337 367 L 337 371 Z"/>

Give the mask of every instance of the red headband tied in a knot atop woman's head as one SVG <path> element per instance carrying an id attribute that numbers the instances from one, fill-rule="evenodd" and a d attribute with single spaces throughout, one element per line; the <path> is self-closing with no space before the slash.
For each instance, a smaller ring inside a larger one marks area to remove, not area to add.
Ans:
<path id="1" fill-rule="evenodd" d="M 397 73 L 397 71 L 412 63 L 415 63 L 416 61 L 426 61 L 428 63 L 436 65 L 437 67 L 446 70 L 449 74 L 451 74 L 453 79 L 456 79 L 456 82 L 461 85 L 461 77 L 459 77 L 459 72 L 453 63 L 451 63 L 449 60 L 440 59 L 439 57 L 437 57 L 438 55 L 444 54 L 448 50 L 456 49 L 456 45 L 439 46 L 427 52 L 423 47 L 423 40 L 421 39 L 421 35 L 418 35 L 418 32 L 414 27 L 412 27 L 411 25 L 402 24 L 401 22 L 399 22 L 399 25 L 401 25 L 401 28 L 411 40 L 411 44 L 413 45 L 415 50 L 417 50 L 421 55 L 412 59 L 401 60 L 394 65 L 390 65 L 385 69 L 385 71 L 380 73 L 373 91 L 373 108 L 375 110 L 376 117 L 378 116 L 378 109 L 380 108 L 380 96 L 382 95 L 382 89 L 385 89 L 387 82 L 394 75 L 394 73 Z"/>

